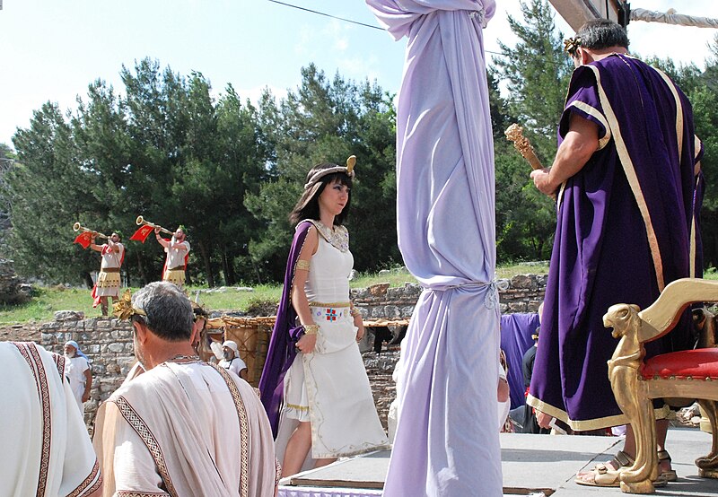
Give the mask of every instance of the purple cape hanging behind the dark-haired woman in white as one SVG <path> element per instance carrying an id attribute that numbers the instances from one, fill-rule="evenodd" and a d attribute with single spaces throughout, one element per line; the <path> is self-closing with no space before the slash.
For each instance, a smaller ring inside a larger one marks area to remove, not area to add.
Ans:
<path id="1" fill-rule="evenodd" d="M 292 248 L 289 249 L 289 257 L 286 260 L 285 286 L 279 301 L 279 309 L 276 311 L 272 338 L 267 348 L 267 361 L 264 363 L 262 377 L 259 379 L 260 398 L 267 410 L 275 438 L 279 428 L 279 411 L 282 408 L 285 394 L 285 373 L 297 354 L 294 345 L 303 334 L 302 327 L 297 327 L 295 324 L 297 313 L 292 306 L 292 282 L 294 266 L 302 252 L 302 246 L 310 227 L 310 222 L 300 222 L 294 232 Z"/>

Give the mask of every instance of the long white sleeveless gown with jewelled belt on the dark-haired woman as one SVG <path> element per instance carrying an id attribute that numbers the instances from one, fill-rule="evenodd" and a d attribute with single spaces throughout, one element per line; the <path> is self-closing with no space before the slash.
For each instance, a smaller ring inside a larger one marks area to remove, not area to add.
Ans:
<path id="1" fill-rule="evenodd" d="M 349 274 L 354 257 L 348 249 L 341 251 L 320 235 L 310 264 L 304 290 L 320 331 L 314 352 L 298 353 L 285 376 L 285 405 L 276 438 L 280 461 L 299 421 L 311 422 L 311 458 L 352 456 L 389 444 L 349 313 Z M 310 464 L 308 459 L 305 467 Z"/>

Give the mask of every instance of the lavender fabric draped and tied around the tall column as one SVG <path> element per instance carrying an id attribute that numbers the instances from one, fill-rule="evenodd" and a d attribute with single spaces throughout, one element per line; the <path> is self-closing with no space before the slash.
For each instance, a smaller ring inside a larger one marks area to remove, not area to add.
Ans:
<path id="1" fill-rule="evenodd" d="M 482 24 L 493 0 L 366 0 L 408 38 L 398 243 L 424 287 L 402 344 L 388 497 L 502 494 L 494 149 Z"/>

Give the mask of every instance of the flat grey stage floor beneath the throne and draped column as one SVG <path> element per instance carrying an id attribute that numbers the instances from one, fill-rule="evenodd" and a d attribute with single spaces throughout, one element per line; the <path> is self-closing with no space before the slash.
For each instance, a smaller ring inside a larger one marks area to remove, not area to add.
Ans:
<path id="1" fill-rule="evenodd" d="M 718 480 L 698 477 L 693 461 L 710 451 L 711 437 L 697 429 L 671 428 L 668 449 L 679 481 L 656 489 L 656 495 L 715 497 Z M 618 488 L 595 488 L 574 483 L 574 475 L 604 462 L 623 447 L 618 437 L 501 434 L 504 495 L 610 497 Z M 279 497 L 379 496 L 390 451 L 348 458 L 285 478 Z M 407 477 L 411 477 L 407 475 Z M 477 482 L 477 496 L 481 496 Z"/>

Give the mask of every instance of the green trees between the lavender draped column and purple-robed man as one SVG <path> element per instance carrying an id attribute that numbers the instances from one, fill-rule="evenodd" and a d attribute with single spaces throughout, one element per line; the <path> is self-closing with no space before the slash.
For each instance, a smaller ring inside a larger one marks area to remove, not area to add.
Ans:
<path id="1" fill-rule="evenodd" d="M 556 31 L 555 14 L 546 1 L 520 2 L 523 20 L 509 16 L 519 38 L 511 48 L 499 42 L 501 56 L 489 69 L 489 98 L 495 134 L 496 243 L 499 262 L 547 259 L 550 256 L 556 208 L 536 190 L 530 166 L 503 136 L 519 123 L 544 166 L 556 154 L 558 118 L 573 71 Z M 504 83 L 508 98 L 498 91 Z"/>

